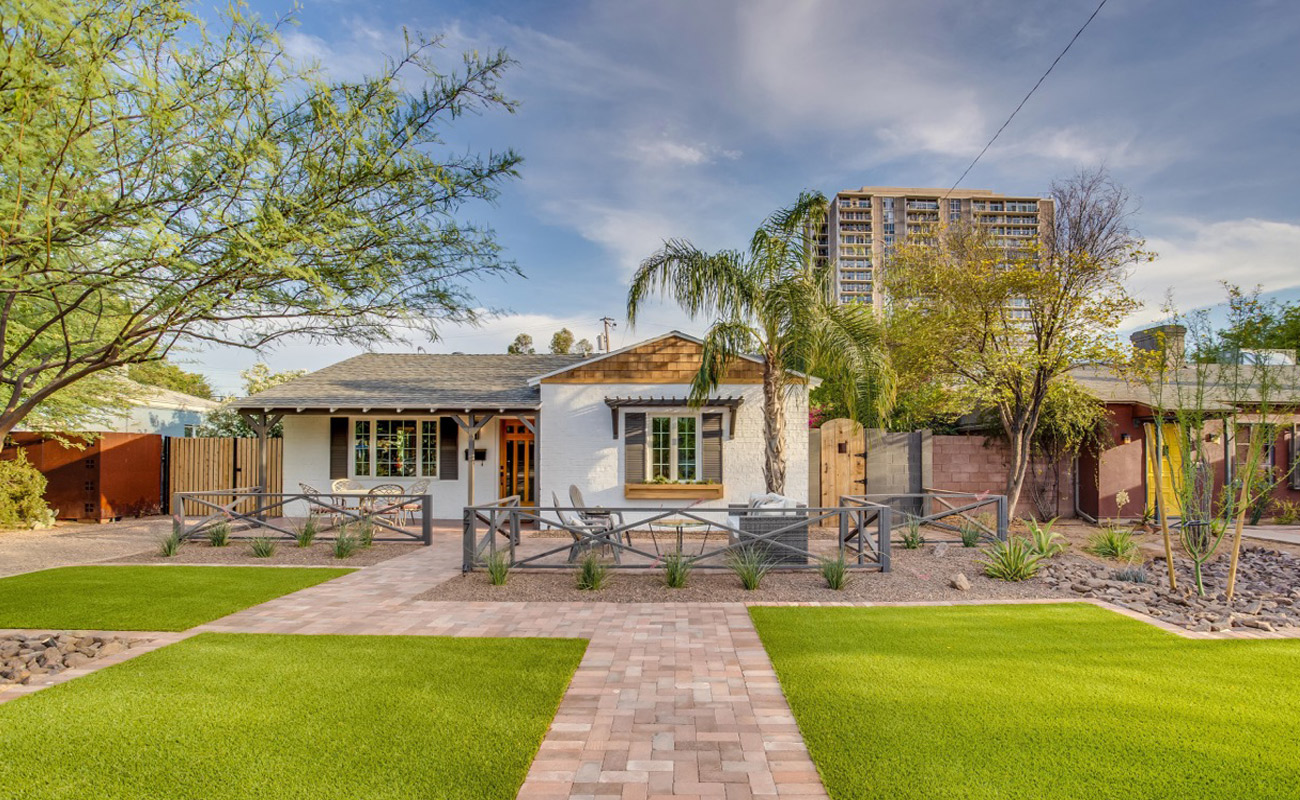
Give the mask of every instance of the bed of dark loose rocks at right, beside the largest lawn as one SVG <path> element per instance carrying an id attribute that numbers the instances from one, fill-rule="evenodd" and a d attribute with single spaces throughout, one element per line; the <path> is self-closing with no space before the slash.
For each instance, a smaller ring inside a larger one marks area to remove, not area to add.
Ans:
<path id="1" fill-rule="evenodd" d="M 1118 568 L 1118 565 L 1057 561 L 1044 567 L 1040 576 L 1054 589 L 1105 600 L 1191 631 L 1300 627 L 1300 558 L 1286 553 L 1243 548 L 1231 604 L 1223 593 L 1227 555 L 1219 555 L 1202 568 L 1204 597 L 1196 594 L 1191 563 L 1186 559 L 1175 558 L 1176 592 L 1169 589 L 1162 557 L 1147 566 L 1147 583 L 1118 580 L 1113 576 Z"/>

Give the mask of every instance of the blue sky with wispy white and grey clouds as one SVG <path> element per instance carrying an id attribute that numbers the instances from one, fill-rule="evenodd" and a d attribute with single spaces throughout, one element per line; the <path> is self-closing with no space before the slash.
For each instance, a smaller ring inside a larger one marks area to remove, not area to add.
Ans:
<path id="1" fill-rule="evenodd" d="M 255 0 L 292 12 L 286 49 L 356 78 L 398 53 L 403 27 L 460 52 L 506 48 L 519 101 L 456 121 L 452 147 L 511 147 L 521 177 L 463 219 L 491 225 L 524 278 L 474 285 L 477 329 L 381 350 L 543 349 L 568 327 L 615 347 L 672 328 L 672 307 L 625 320 L 627 281 L 670 237 L 740 247 L 801 190 L 952 186 L 1097 0 L 645 0 L 468 3 Z M 200 13 L 203 9 L 199 9 Z M 213 12 L 214 17 L 216 13 Z M 1300 298 L 1300 4 L 1109 0 L 962 181 L 1043 195 L 1104 165 L 1132 194 L 1157 254 L 1131 290 L 1157 320 L 1166 293 L 1210 306 L 1221 281 Z M 315 369 L 359 350 L 289 342 L 181 356 L 222 394 L 256 360 Z"/>

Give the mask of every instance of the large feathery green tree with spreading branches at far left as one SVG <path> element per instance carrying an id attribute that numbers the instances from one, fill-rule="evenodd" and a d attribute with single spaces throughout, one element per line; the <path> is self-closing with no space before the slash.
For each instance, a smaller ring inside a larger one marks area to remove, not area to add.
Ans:
<path id="1" fill-rule="evenodd" d="M 174 0 L 9 4 L 3 44 L 0 436 L 178 345 L 436 337 L 514 271 L 458 212 L 519 157 L 442 139 L 512 111 L 503 52 L 445 69 L 408 36 L 330 82 L 242 7 L 204 29 Z"/>

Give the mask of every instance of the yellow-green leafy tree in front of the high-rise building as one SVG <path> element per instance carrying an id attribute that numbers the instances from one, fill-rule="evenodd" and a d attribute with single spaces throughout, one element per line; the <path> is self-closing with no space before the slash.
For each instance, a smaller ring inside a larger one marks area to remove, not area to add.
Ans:
<path id="1" fill-rule="evenodd" d="M 991 408 L 1011 450 L 1005 493 L 1024 488 L 1054 382 L 1079 363 L 1119 363 L 1115 328 L 1136 300 L 1124 281 L 1145 258 L 1127 226 L 1124 190 L 1102 172 L 1053 183 L 1056 226 L 1006 246 L 958 221 L 901 245 L 883 271 L 896 363 Z"/>

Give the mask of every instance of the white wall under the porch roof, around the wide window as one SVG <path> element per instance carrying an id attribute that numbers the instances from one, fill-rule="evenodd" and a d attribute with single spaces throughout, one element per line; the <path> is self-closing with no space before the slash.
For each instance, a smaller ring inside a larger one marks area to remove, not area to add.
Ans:
<path id="1" fill-rule="evenodd" d="M 387 419 L 389 416 L 391 415 L 372 414 L 350 416 L 348 419 Z M 324 414 L 285 415 L 285 492 L 299 492 L 299 483 L 306 483 L 321 492 L 329 492 L 329 420 L 330 418 Z M 608 429 L 608 425 L 606 428 Z M 478 440 L 474 442 L 476 447 L 488 451 L 488 458 L 474 464 L 474 501 L 477 503 L 491 502 L 498 496 L 497 442 L 499 431 L 499 420 L 493 419 L 478 432 Z M 469 490 L 469 472 L 463 459 L 463 453 L 468 446 L 468 436 L 462 431 L 459 437 L 462 462 L 456 480 L 441 477 L 354 477 L 354 480 L 367 488 L 380 484 L 410 487 L 416 481 L 428 480 L 429 493 L 433 496 L 433 515 L 438 519 L 460 519 Z M 291 513 L 304 514 L 306 503 L 299 503 L 299 506 L 302 507 L 292 509 Z"/>

